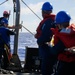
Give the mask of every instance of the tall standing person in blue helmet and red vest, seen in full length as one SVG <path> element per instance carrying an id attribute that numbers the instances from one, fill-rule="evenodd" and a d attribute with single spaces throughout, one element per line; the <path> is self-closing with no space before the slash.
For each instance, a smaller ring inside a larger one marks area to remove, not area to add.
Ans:
<path id="1" fill-rule="evenodd" d="M 35 38 L 39 46 L 39 56 L 42 58 L 42 75 L 50 75 L 52 73 L 52 67 L 50 65 L 50 54 L 48 42 L 51 40 L 52 31 L 50 28 L 55 28 L 54 19 L 55 15 L 52 14 L 53 6 L 49 2 L 45 2 L 42 5 L 42 17 L 43 20 L 37 27 Z"/>

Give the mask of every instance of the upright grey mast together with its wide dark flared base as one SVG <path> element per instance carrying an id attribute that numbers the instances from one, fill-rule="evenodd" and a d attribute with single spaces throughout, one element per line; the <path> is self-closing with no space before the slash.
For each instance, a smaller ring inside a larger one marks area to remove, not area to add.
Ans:
<path id="1" fill-rule="evenodd" d="M 20 1 L 19 0 L 13 0 L 13 3 L 15 4 L 15 13 L 16 13 L 16 18 L 15 18 L 15 36 L 14 36 L 14 51 L 12 55 L 12 60 L 15 65 L 11 67 L 11 70 L 16 70 L 19 71 L 22 69 L 21 66 L 21 61 L 19 59 L 19 56 L 17 54 L 18 51 L 18 36 L 19 36 L 19 21 L 20 21 Z"/>

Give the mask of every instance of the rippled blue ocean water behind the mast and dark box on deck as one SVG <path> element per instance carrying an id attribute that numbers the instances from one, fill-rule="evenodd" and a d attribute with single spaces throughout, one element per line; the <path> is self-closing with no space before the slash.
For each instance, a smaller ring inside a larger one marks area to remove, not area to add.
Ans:
<path id="1" fill-rule="evenodd" d="M 13 54 L 14 51 L 14 36 L 10 37 L 10 47 L 11 47 L 11 52 Z M 25 60 L 25 55 L 26 55 L 26 47 L 38 47 L 36 43 L 36 39 L 34 36 L 30 33 L 19 33 L 18 37 L 18 56 L 21 61 Z"/>

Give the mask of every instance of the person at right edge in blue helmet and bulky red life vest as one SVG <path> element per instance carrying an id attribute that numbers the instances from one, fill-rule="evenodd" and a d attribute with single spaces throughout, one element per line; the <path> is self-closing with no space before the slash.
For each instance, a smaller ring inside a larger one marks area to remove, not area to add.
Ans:
<path id="1" fill-rule="evenodd" d="M 70 19 L 67 12 L 59 11 L 55 18 L 58 28 L 51 29 L 54 33 L 54 46 L 50 52 L 58 58 L 55 75 L 75 75 L 75 25 L 69 24 Z"/>

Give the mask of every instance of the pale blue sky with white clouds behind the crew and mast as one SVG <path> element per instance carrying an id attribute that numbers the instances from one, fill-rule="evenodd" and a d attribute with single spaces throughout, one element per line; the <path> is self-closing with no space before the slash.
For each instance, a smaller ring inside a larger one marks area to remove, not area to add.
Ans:
<path id="1" fill-rule="evenodd" d="M 3 16 L 3 11 L 11 11 L 9 17 L 9 25 L 15 25 L 15 14 L 13 13 L 13 0 L 0 0 L 0 16 Z M 63 10 L 70 14 L 71 23 L 75 23 L 75 0 L 20 0 L 20 24 L 25 27 L 20 29 L 20 32 L 36 32 L 36 28 L 40 23 L 40 19 L 22 2 L 42 20 L 41 7 L 44 2 L 50 2 L 53 5 L 53 13 L 57 14 Z M 27 30 L 26 30 L 27 29 Z"/>

